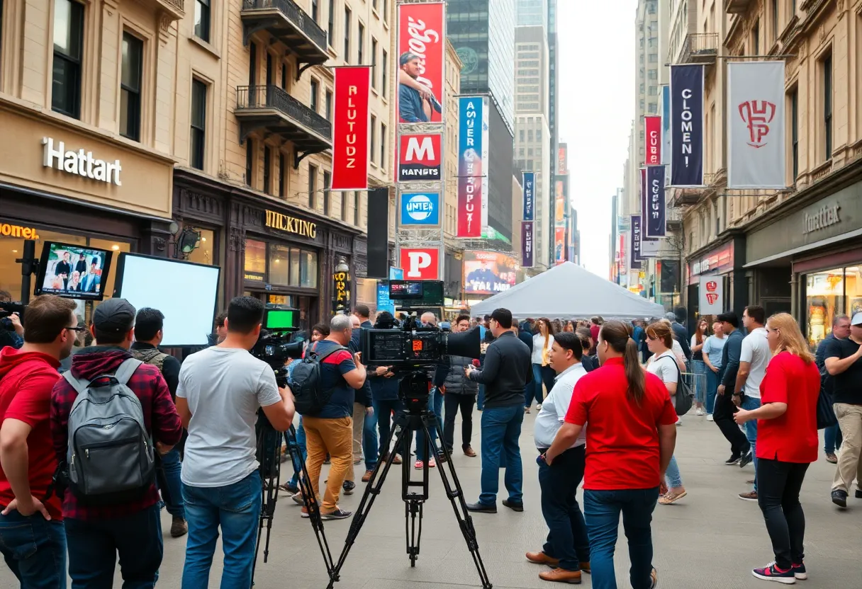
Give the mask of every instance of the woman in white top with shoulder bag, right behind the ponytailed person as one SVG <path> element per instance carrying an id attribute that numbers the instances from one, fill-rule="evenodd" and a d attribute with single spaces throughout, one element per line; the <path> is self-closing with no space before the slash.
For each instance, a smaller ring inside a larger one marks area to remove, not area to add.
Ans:
<path id="1" fill-rule="evenodd" d="M 682 369 L 679 366 L 678 356 L 673 352 L 673 343 L 673 331 L 666 319 L 647 325 L 647 348 L 653 352 L 653 356 L 650 356 L 647 362 L 647 372 L 658 376 L 665 384 L 667 393 L 671 398 L 671 404 L 676 406 L 677 384 L 681 380 Z M 684 369 L 685 364 L 682 366 Z M 659 497 L 659 504 L 671 505 L 688 494 L 683 487 L 683 477 L 679 474 L 675 456 L 671 456 L 671 462 L 667 465 L 665 475 L 667 493 Z"/>

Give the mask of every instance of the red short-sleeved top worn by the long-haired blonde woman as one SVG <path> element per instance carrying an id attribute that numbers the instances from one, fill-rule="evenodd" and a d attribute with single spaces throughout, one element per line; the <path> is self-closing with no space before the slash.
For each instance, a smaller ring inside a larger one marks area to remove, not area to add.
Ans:
<path id="1" fill-rule="evenodd" d="M 760 401 L 786 403 L 774 419 L 758 419 L 757 457 L 781 462 L 817 460 L 817 397 L 820 372 L 788 351 L 772 356 L 760 383 Z"/>

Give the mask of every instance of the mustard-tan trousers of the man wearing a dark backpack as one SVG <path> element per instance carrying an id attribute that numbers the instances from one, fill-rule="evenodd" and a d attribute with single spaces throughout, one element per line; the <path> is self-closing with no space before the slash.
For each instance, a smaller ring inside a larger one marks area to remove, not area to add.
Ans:
<path id="1" fill-rule="evenodd" d="M 321 511 L 324 513 L 335 511 L 338 507 L 342 483 L 346 478 L 353 480 L 350 447 L 352 422 L 352 418 L 325 419 L 303 416 L 305 445 L 309 452 L 305 467 L 309 469 L 309 479 L 314 486 L 315 497 L 320 497 L 321 467 L 327 454 L 332 464 L 321 504 Z"/>

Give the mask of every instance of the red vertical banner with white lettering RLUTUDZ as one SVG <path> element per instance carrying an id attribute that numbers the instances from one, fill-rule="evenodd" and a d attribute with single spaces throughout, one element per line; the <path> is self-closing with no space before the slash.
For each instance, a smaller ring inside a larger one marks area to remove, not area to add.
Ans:
<path id="1" fill-rule="evenodd" d="M 336 67 L 333 105 L 332 190 L 368 189 L 368 66 Z"/>

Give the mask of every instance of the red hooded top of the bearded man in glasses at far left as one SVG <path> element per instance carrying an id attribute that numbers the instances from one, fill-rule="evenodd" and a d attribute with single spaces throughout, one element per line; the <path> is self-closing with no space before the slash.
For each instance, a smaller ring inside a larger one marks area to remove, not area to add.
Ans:
<path id="1" fill-rule="evenodd" d="M 11 347 L 0 354 L 0 425 L 4 419 L 18 419 L 33 428 L 27 437 L 30 494 L 40 501 L 51 484 L 57 458 L 51 439 L 51 390 L 59 381 L 59 362 L 38 352 L 22 352 Z M 0 505 L 15 499 L 3 467 L 0 467 Z M 60 499 L 53 493 L 47 502 L 54 520 L 63 518 Z"/>

